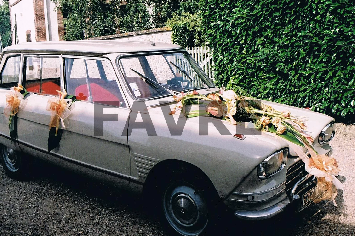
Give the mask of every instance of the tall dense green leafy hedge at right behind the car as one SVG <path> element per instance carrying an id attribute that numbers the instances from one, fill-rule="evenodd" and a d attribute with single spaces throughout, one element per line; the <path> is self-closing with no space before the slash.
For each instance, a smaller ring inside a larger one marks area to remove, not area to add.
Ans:
<path id="1" fill-rule="evenodd" d="M 201 4 L 219 84 L 355 122 L 355 1 Z"/>

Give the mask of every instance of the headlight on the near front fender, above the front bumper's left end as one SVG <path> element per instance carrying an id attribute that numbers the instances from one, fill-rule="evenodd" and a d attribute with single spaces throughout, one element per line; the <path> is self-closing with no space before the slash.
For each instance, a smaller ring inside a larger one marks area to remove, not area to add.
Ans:
<path id="1" fill-rule="evenodd" d="M 288 150 L 277 151 L 258 166 L 259 178 L 268 178 L 275 175 L 286 165 Z"/>

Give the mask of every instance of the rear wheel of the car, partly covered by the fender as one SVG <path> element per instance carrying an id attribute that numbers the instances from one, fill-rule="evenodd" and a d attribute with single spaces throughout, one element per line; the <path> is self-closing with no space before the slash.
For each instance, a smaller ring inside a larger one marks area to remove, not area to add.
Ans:
<path id="1" fill-rule="evenodd" d="M 7 176 L 10 178 L 23 180 L 29 177 L 31 159 L 22 152 L 0 144 L 0 161 Z"/>

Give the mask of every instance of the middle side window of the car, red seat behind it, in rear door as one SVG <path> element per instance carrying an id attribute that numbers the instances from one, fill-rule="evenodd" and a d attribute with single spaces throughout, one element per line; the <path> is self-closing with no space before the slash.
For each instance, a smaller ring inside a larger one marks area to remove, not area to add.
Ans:
<path id="1" fill-rule="evenodd" d="M 58 95 L 60 91 L 59 57 L 25 57 L 25 86 L 28 92 Z"/>

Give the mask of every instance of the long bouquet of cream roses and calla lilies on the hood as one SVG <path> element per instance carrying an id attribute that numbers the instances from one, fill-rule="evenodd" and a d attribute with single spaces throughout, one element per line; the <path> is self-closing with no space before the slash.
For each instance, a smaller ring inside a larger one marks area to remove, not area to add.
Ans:
<path id="1" fill-rule="evenodd" d="M 248 95 L 241 88 L 237 93 L 221 89 L 218 93 L 207 96 L 190 91 L 174 95 L 174 99 L 177 103 L 169 114 L 175 114 L 177 109 L 182 109 L 186 117 L 209 115 L 227 120 L 233 125 L 243 121 L 252 122 L 257 130 L 275 133 L 303 147 L 304 141 L 313 141 L 310 135 L 303 132 L 307 128 L 305 117 L 291 115 L 288 110 L 276 111 L 261 100 Z M 203 105 L 206 109 L 204 111 L 187 109 L 186 106 L 191 104 Z"/>

